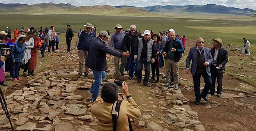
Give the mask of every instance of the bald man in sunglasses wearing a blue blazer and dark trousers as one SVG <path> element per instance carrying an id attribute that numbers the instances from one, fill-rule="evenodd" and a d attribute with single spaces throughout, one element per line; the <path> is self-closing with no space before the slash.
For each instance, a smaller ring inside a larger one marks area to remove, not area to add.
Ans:
<path id="1" fill-rule="evenodd" d="M 189 49 L 187 61 L 186 61 L 186 69 L 187 74 L 189 72 L 189 65 L 190 61 L 192 60 L 191 65 L 191 74 L 193 76 L 193 83 L 194 83 L 194 91 L 196 96 L 195 104 L 200 104 L 201 98 L 204 101 L 209 102 L 206 98 L 208 91 L 211 87 L 211 71 L 210 65 L 212 63 L 212 56 L 209 48 L 203 47 L 204 46 L 204 39 L 199 37 L 196 39 L 197 47 L 192 47 Z M 204 78 L 204 89 L 200 94 L 200 79 L 201 75 Z"/>

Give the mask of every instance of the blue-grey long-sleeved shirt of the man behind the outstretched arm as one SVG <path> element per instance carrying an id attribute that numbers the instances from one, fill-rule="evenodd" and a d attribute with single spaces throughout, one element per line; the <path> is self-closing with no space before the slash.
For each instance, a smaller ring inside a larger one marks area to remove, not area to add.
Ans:
<path id="1" fill-rule="evenodd" d="M 118 33 L 113 33 L 111 36 L 111 41 L 110 41 L 110 48 L 117 48 L 117 49 L 123 49 L 123 40 L 124 40 L 125 32 L 121 31 L 120 34 Z"/>

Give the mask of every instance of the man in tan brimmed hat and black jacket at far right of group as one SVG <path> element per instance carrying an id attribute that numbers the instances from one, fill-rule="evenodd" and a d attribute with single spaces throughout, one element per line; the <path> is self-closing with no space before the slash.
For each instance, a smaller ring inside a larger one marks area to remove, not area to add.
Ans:
<path id="1" fill-rule="evenodd" d="M 208 94 L 214 95 L 215 81 L 217 78 L 217 83 L 218 83 L 217 96 L 221 97 L 223 72 L 225 70 L 225 65 L 229 59 L 228 59 L 227 51 L 223 47 L 221 47 L 222 40 L 218 37 L 212 40 L 213 40 L 213 46 L 214 46 L 213 48 L 211 48 L 211 56 L 213 58 L 213 61 L 211 64 L 212 85 Z"/>

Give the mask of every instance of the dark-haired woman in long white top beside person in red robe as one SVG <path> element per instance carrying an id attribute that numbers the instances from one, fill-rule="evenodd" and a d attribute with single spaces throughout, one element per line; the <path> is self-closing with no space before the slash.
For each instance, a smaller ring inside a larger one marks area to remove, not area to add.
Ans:
<path id="1" fill-rule="evenodd" d="M 33 32 L 27 32 L 27 35 L 21 35 L 17 38 L 19 40 L 20 37 L 25 37 L 26 41 L 24 44 L 26 45 L 25 51 L 23 53 L 23 63 L 24 71 L 23 71 L 23 77 L 27 77 L 27 69 L 29 64 L 29 59 L 31 58 L 31 49 L 34 48 L 34 39 L 33 39 Z M 28 71 L 28 75 L 30 76 L 30 71 Z"/>

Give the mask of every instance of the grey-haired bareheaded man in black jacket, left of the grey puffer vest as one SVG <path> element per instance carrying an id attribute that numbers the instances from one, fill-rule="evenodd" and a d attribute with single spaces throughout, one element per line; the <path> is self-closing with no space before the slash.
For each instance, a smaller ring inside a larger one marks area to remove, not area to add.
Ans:
<path id="1" fill-rule="evenodd" d="M 136 74 L 136 62 L 134 60 L 135 49 L 138 48 L 139 34 L 136 32 L 136 26 L 131 25 L 129 33 L 125 34 L 123 40 L 124 52 L 129 52 L 130 56 L 127 58 L 127 70 L 129 71 L 129 79 L 133 78 L 133 73 Z"/>

